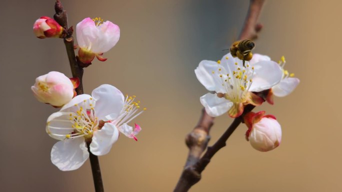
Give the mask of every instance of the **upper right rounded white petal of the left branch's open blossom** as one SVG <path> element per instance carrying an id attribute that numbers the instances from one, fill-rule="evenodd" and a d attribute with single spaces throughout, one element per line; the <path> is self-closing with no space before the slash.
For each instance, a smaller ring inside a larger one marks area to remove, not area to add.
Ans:
<path id="1" fill-rule="evenodd" d="M 96 100 L 96 116 L 101 120 L 115 119 L 123 108 L 124 97 L 121 91 L 112 85 L 101 85 L 94 89 L 91 95 Z"/>

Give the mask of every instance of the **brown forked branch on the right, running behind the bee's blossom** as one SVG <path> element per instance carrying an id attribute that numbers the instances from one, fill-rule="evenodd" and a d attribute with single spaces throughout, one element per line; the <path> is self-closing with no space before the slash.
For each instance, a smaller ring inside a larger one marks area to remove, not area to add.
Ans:
<path id="1" fill-rule="evenodd" d="M 257 23 L 259 14 L 261 12 L 264 0 L 250 0 L 248 13 L 239 36 L 239 39 L 256 39 L 257 33 L 261 30 L 262 24 Z M 248 105 L 244 109 L 244 113 L 251 111 L 254 106 Z M 213 155 L 225 146 L 226 140 L 241 123 L 243 114 L 235 118 L 226 132 L 218 139 L 218 141 L 202 155 L 209 142 L 209 130 L 213 124 L 214 118 L 209 117 L 205 110 L 202 110 L 201 118 L 197 126 L 186 136 L 185 143 L 189 148 L 186 163 L 183 172 L 178 180 L 178 183 L 173 192 L 187 192 L 191 186 L 196 184 L 200 178 L 201 173 L 207 164 L 210 162 Z"/>

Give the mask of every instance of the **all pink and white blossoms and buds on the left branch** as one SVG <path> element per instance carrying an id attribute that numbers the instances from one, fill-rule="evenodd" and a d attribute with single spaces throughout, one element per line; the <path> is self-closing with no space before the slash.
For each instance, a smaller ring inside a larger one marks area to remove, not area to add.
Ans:
<path id="1" fill-rule="evenodd" d="M 38 38 L 63 38 L 66 29 L 47 16 L 33 24 Z M 90 63 L 94 57 L 105 61 L 109 51 L 120 37 L 119 27 L 101 18 L 84 18 L 76 25 L 78 62 Z M 107 154 L 119 134 L 137 141 L 141 127 L 130 123 L 145 108 L 135 96 L 123 96 L 116 87 L 108 84 L 94 89 L 91 95 L 77 95 L 78 78 L 68 78 L 57 71 L 48 72 L 35 79 L 31 90 L 42 103 L 60 108 L 47 118 L 46 133 L 58 140 L 51 150 L 51 162 L 62 171 L 78 169 L 88 159 L 89 153 Z"/>

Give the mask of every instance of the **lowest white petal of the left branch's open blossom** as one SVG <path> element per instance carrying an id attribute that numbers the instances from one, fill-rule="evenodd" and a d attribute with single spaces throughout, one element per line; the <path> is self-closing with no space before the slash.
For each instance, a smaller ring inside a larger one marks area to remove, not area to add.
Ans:
<path id="1" fill-rule="evenodd" d="M 61 171 L 78 169 L 88 157 L 83 137 L 58 141 L 51 150 L 51 162 Z"/>

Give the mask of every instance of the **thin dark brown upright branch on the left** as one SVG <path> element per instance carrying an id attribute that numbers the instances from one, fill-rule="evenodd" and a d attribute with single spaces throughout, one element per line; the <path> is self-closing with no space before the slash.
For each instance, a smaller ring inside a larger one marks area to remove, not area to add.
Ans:
<path id="1" fill-rule="evenodd" d="M 83 67 L 80 66 L 80 63 L 76 59 L 75 52 L 73 49 L 73 37 L 72 37 L 73 28 L 72 26 L 68 28 L 67 14 L 66 14 L 66 11 L 63 10 L 63 5 L 61 4 L 59 0 L 56 0 L 56 3 L 54 5 L 54 10 L 56 12 L 53 15 L 54 20 L 56 20 L 64 28 L 63 40 L 64 40 L 64 44 L 66 48 L 66 53 L 69 59 L 72 77 L 77 77 L 79 79 L 79 86 L 76 88 L 76 92 L 77 92 L 77 95 L 80 95 L 80 94 L 83 94 L 83 85 L 82 85 Z M 90 152 L 88 142 L 87 142 L 87 148 L 89 152 L 89 160 L 90 160 L 91 173 L 92 173 L 92 179 L 94 182 L 95 192 L 104 192 L 98 157 L 93 155 Z"/>

